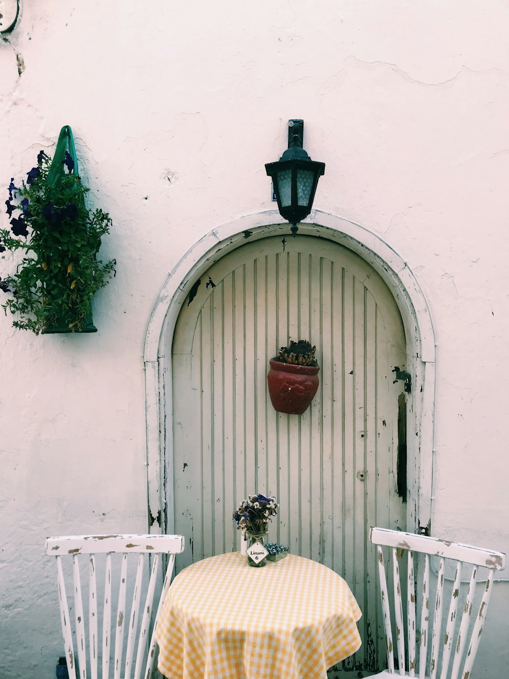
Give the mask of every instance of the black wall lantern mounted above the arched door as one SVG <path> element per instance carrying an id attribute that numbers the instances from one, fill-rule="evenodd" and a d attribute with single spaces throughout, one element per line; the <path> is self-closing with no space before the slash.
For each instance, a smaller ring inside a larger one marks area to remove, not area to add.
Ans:
<path id="1" fill-rule="evenodd" d="M 289 120 L 288 149 L 278 162 L 265 165 L 267 175 L 272 178 L 280 215 L 290 222 L 294 236 L 299 221 L 311 212 L 318 179 L 325 172 L 325 163 L 311 160 L 304 151 L 303 137 L 304 121 Z"/>

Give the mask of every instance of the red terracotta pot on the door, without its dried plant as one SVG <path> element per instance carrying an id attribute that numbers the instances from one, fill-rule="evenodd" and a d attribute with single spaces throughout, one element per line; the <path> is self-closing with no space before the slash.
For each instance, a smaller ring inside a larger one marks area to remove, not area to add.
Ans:
<path id="1" fill-rule="evenodd" d="M 274 410 L 288 415 L 302 415 L 318 390 L 319 370 L 318 365 L 293 365 L 270 359 L 267 386 Z"/>

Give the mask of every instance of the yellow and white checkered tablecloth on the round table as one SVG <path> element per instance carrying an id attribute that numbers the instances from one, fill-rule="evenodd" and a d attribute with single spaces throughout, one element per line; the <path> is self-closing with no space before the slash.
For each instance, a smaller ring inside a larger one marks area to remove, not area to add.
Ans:
<path id="1" fill-rule="evenodd" d="M 362 615 L 333 570 L 289 554 L 262 568 L 240 552 L 174 579 L 155 632 L 169 679 L 323 679 L 360 647 Z"/>

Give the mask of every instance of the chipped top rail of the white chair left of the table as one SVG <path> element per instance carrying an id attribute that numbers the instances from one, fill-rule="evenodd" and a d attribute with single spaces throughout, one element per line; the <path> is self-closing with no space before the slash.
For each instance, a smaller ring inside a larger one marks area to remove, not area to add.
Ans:
<path id="1" fill-rule="evenodd" d="M 50 556 L 108 552 L 171 553 L 184 551 L 183 535 L 67 535 L 46 539 Z"/>

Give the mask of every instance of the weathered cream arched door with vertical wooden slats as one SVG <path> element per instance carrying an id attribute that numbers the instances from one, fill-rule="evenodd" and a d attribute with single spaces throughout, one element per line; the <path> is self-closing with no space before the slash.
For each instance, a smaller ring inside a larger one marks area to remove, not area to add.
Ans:
<path id="1" fill-rule="evenodd" d="M 178 568 L 239 549 L 233 511 L 249 494 L 276 495 L 269 538 L 345 578 L 363 644 L 343 664 L 377 669 L 385 650 L 368 533 L 404 530 L 406 520 L 393 372 L 406 355 L 394 298 L 358 255 L 313 236 L 248 243 L 202 274 L 191 297 L 172 347 L 169 499 L 172 530 L 189 541 Z M 267 393 L 269 359 L 289 337 L 317 348 L 320 386 L 303 416 L 276 413 Z"/>

